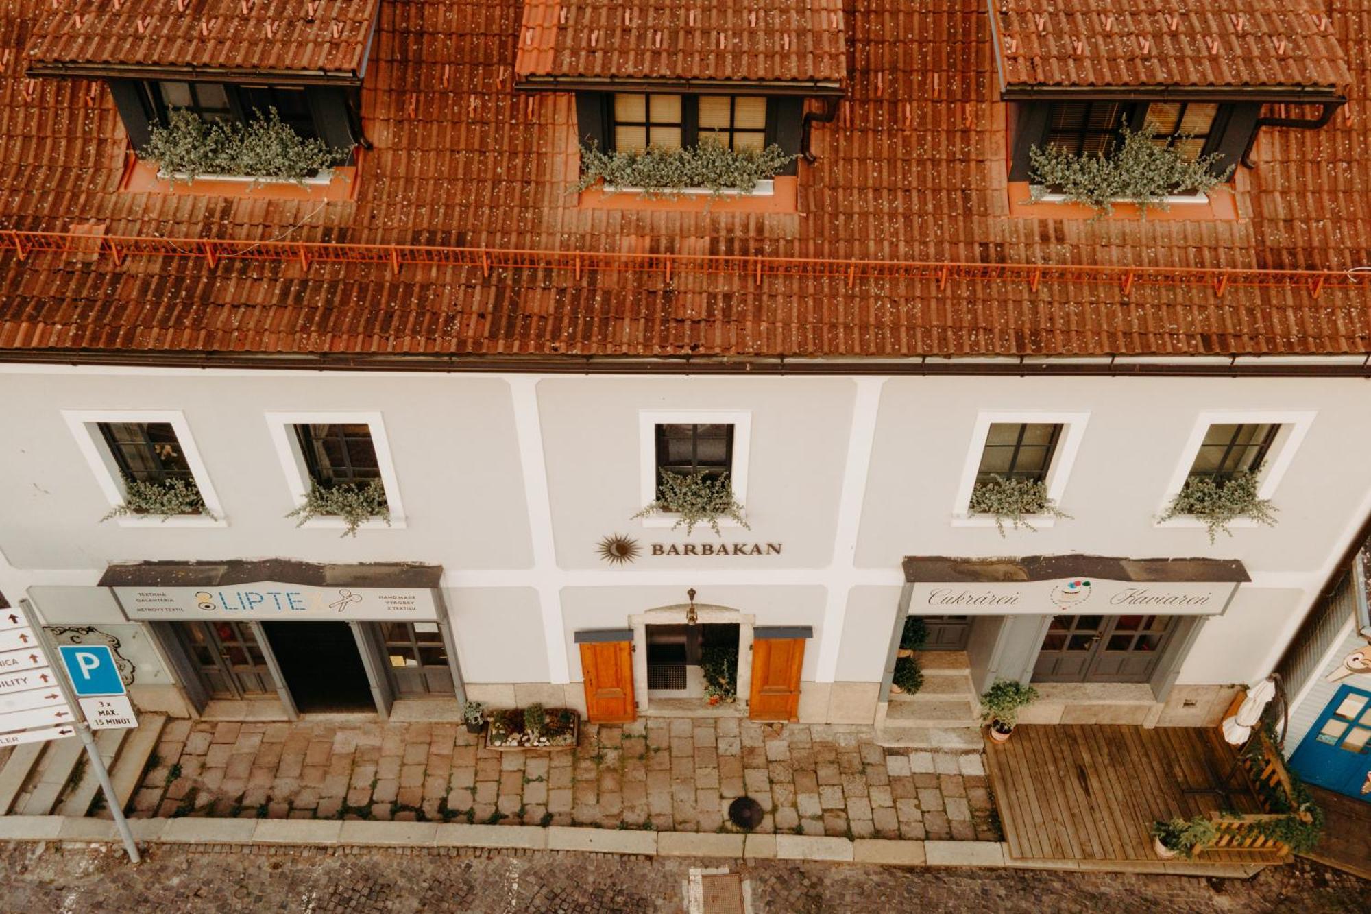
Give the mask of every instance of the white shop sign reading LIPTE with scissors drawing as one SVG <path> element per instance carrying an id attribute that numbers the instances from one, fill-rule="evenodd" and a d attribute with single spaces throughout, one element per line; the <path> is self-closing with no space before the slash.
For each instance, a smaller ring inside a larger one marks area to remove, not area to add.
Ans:
<path id="1" fill-rule="evenodd" d="M 255 582 L 215 587 L 114 587 L 130 619 L 265 619 L 407 622 L 437 618 L 422 587 L 313 587 Z"/>

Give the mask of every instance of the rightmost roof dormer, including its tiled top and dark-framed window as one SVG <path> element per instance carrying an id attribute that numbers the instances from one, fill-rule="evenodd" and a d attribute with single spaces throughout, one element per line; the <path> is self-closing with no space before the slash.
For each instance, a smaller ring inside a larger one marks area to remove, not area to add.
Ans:
<path id="1" fill-rule="evenodd" d="M 1021 206 L 1043 181 L 1045 151 L 1116 161 L 1141 134 L 1134 143 L 1165 151 L 1157 161 L 1231 181 L 1254 165 L 1261 129 L 1320 129 L 1346 102 L 1350 74 L 1328 18 L 1300 0 L 1260 15 L 1234 3 L 1124 12 L 1108 0 L 988 3 L 1017 215 L 1064 215 Z M 1034 198 L 1052 200 L 1054 189 Z M 1204 204 L 1182 207 L 1182 218 L 1237 217 L 1226 191 L 1176 187 L 1163 203 Z"/>

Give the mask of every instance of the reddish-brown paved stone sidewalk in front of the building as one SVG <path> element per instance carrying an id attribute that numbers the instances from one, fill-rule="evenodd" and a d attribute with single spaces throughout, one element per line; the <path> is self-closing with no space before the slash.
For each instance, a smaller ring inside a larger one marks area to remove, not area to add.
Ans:
<path id="1" fill-rule="evenodd" d="M 173 720 L 133 815 L 366 818 L 995 840 L 979 753 L 883 749 L 869 727 L 651 718 L 574 752 L 494 752 L 455 723 Z"/>

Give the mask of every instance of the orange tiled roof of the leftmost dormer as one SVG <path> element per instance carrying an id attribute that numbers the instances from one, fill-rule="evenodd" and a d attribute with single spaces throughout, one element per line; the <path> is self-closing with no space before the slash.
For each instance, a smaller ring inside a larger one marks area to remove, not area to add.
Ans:
<path id="1" fill-rule="evenodd" d="M 33 41 L 27 65 L 34 71 L 96 73 L 147 66 L 356 77 L 366 63 L 380 1 L 53 0 L 27 4 L 34 8 L 29 14 Z"/>

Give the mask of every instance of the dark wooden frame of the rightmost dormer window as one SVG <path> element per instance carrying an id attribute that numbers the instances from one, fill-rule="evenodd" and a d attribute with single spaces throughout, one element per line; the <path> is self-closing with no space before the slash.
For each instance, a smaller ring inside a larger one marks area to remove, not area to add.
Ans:
<path id="1" fill-rule="evenodd" d="M 1137 129 L 1148 118 L 1149 103 L 1171 103 L 1171 102 L 1212 102 L 1219 104 L 1217 113 L 1215 113 L 1213 124 L 1209 128 L 1209 136 L 1200 151 L 1200 155 L 1209 155 L 1212 152 L 1222 154 L 1222 158 L 1215 163 L 1216 173 L 1226 172 L 1230 166 L 1238 165 L 1242 158 L 1242 151 L 1248 145 L 1248 139 L 1252 136 L 1252 130 L 1256 126 L 1256 121 L 1261 114 L 1261 104 L 1253 102 L 1243 102 L 1241 99 L 1224 99 L 1224 97 L 1204 97 L 1204 99 L 1160 99 L 1160 97 L 1130 97 L 1130 99 L 1094 99 L 1089 96 L 1072 96 L 1072 97 L 1045 97 L 1036 100 L 1020 100 L 1010 106 L 1010 119 L 1013 125 L 1013 145 L 1010 150 L 1009 159 L 1009 180 L 1010 181 L 1027 181 L 1031 173 L 1031 165 L 1028 159 L 1028 150 L 1034 145 L 1045 147 L 1047 145 L 1047 134 L 1052 126 L 1052 106 L 1057 102 L 1119 102 L 1121 103 L 1127 114 L 1127 122 L 1130 129 Z M 1168 139 L 1175 139 L 1176 134 L 1171 134 Z M 1230 176 L 1231 180 L 1231 176 Z"/>

